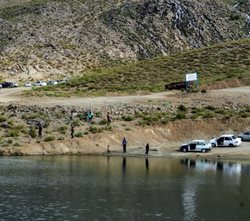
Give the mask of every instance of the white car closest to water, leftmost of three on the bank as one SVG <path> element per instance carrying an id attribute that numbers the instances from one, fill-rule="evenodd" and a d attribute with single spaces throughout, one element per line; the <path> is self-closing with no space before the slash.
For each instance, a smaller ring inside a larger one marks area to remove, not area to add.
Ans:
<path id="1" fill-rule="evenodd" d="M 182 144 L 180 146 L 180 151 L 182 152 L 199 151 L 205 153 L 210 150 L 212 150 L 212 145 L 205 140 L 193 140 L 191 143 Z"/>

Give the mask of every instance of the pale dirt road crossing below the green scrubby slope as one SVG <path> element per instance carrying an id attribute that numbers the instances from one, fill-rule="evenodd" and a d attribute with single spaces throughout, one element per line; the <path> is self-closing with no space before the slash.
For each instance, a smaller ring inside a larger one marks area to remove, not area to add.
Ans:
<path id="1" fill-rule="evenodd" d="M 101 96 L 101 97 L 26 97 L 22 93 L 30 88 L 11 88 L 0 90 L 0 103 L 20 105 L 39 105 L 50 107 L 55 105 L 103 107 L 120 104 L 143 104 L 168 101 L 172 104 L 199 105 L 205 103 L 221 106 L 222 104 L 250 105 L 250 86 L 209 90 L 207 93 L 183 93 L 180 91 L 166 91 L 143 95 Z"/>

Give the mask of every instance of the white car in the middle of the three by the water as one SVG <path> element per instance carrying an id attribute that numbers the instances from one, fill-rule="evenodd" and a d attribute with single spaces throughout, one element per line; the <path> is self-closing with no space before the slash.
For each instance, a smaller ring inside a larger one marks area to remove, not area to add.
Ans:
<path id="1" fill-rule="evenodd" d="M 217 139 L 210 140 L 212 147 L 237 147 L 241 145 L 241 138 L 233 134 L 222 135 Z"/>

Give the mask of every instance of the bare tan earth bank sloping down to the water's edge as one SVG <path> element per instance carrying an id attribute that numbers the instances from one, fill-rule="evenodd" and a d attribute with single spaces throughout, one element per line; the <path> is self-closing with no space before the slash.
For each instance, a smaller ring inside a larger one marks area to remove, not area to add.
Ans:
<path id="1" fill-rule="evenodd" d="M 106 154 L 110 145 L 111 154 L 120 155 L 121 140 L 128 140 L 128 155 L 143 156 L 146 143 L 150 144 L 150 156 L 193 156 L 197 153 L 178 152 L 182 142 L 192 139 L 211 139 L 221 134 L 240 133 L 250 129 L 250 118 L 246 119 L 199 119 L 169 122 L 165 126 L 134 127 L 129 131 L 114 128 L 98 134 L 85 135 L 82 138 L 40 142 L 32 140 L 21 147 L 1 147 L 1 155 L 63 155 L 63 154 Z M 217 149 L 217 150 L 216 150 Z M 249 158 L 250 145 L 244 151 L 240 148 L 215 148 L 206 156 L 230 158 Z M 201 155 L 201 154 L 198 154 Z"/>

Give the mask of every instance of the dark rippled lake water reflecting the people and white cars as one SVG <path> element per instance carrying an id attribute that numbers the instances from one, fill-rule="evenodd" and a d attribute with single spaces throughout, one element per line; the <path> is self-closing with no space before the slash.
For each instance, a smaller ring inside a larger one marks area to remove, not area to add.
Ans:
<path id="1" fill-rule="evenodd" d="M 0 158 L 0 220 L 250 220 L 250 162 Z"/>

